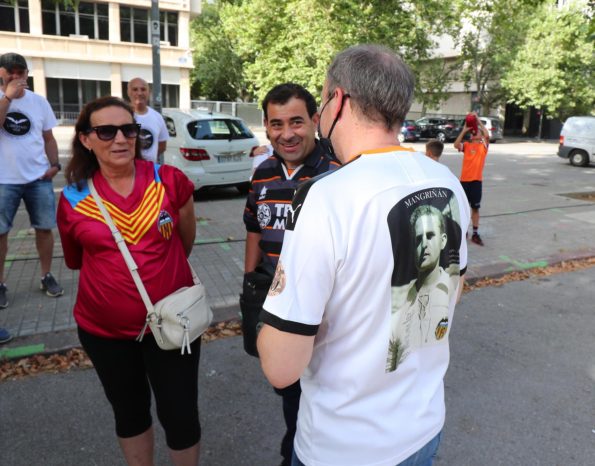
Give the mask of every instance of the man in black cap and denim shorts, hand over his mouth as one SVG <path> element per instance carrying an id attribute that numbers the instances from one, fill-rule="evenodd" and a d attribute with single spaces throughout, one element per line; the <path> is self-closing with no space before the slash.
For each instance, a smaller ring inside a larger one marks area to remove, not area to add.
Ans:
<path id="1" fill-rule="evenodd" d="M 61 169 L 52 128 L 58 122 L 48 101 L 29 90 L 28 75 L 27 62 L 18 53 L 0 57 L 0 308 L 8 306 L 4 260 L 21 199 L 35 228 L 42 272 L 39 287 L 51 297 L 64 292 L 50 273 L 56 226 L 52 178 Z"/>

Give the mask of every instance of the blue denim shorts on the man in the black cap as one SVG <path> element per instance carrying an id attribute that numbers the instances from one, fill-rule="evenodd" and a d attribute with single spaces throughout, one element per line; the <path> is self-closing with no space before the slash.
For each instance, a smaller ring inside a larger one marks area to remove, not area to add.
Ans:
<path id="1" fill-rule="evenodd" d="M 25 201 L 33 228 L 50 230 L 56 226 L 56 203 L 52 180 L 35 180 L 27 184 L 0 184 L 0 235 L 12 228 L 17 209 Z"/>

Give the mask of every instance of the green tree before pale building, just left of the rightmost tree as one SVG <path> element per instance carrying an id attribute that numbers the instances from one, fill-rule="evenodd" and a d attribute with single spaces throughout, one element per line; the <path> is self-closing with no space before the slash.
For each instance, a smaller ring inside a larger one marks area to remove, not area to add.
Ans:
<path id="1" fill-rule="evenodd" d="M 477 103 L 487 114 L 506 97 L 499 79 L 511 67 L 536 7 L 522 0 L 463 0 L 458 8 L 462 26 L 456 40 L 461 50 L 460 77 L 465 90 L 477 89 Z"/>

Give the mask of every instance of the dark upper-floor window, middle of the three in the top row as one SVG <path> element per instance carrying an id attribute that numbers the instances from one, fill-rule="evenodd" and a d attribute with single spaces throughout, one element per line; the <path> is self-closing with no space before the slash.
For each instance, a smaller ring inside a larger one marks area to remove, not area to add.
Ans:
<path id="1" fill-rule="evenodd" d="M 107 3 L 79 2 L 76 7 L 73 5 L 65 7 L 52 0 L 42 0 L 43 34 L 109 39 Z"/>

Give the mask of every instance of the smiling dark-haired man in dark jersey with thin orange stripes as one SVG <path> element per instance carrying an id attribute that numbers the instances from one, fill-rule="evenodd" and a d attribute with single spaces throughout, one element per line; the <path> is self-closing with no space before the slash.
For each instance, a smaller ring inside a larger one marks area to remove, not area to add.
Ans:
<path id="1" fill-rule="evenodd" d="M 278 84 L 268 92 L 262 110 L 274 152 L 254 172 L 246 201 L 245 273 L 261 262 L 277 266 L 287 215 L 294 215 L 291 202 L 297 186 L 340 165 L 324 152 L 314 136 L 319 119 L 316 100 L 302 86 Z M 281 442 L 281 465 L 290 465 L 301 394 L 299 380 L 289 387 L 275 388 L 275 392 L 283 396 L 287 424 Z"/>

